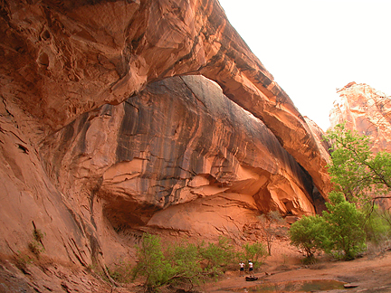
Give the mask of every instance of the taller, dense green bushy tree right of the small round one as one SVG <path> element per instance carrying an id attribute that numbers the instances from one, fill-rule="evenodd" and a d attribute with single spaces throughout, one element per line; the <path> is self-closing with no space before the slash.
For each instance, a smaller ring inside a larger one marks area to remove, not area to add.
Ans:
<path id="1" fill-rule="evenodd" d="M 325 235 L 328 238 L 327 251 L 339 253 L 345 260 L 352 260 L 366 247 L 364 215 L 354 203 L 348 203 L 342 193 L 329 194 L 328 211 L 324 211 Z M 342 252 L 342 254 L 341 254 Z"/>

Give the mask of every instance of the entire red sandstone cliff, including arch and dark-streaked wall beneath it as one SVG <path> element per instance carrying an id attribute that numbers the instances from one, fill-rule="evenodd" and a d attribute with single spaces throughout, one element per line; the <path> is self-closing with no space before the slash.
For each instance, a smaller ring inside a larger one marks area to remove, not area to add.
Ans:
<path id="1" fill-rule="evenodd" d="M 30 253 L 35 225 L 48 258 L 105 272 L 141 232 L 256 240 L 260 213 L 321 205 L 319 129 L 218 2 L 3 1 L 0 16 L 5 257 Z"/>

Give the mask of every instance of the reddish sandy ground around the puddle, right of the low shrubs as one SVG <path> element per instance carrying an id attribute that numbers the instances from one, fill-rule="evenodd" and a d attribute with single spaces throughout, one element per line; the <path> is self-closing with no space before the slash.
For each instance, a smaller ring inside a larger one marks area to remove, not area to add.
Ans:
<path id="1" fill-rule="evenodd" d="M 273 247 L 272 256 L 255 271 L 256 281 L 246 281 L 239 271 L 208 284 L 205 292 L 391 292 L 391 251 L 371 252 L 350 261 L 319 256 L 316 264 L 302 264 L 302 254 L 287 243 Z M 316 286 L 303 284 L 316 280 Z M 338 288 L 330 288 L 329 283 Z M 319 284 L 318 284 L 319 283 Z M 325 285 L 326 284 L 326 285 Z M 325 286 L 319 288 L 319 286 Z M 353 288 L 345 288 L 345 286 Z"/>

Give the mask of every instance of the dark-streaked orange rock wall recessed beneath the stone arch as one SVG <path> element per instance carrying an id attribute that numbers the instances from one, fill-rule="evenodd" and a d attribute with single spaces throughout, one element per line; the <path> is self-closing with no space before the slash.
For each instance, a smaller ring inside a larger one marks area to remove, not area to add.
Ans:
<path id="1" fill-rule="evenodd" d="M 198 213 L 215 227 L 209 233 L 221 232 L 227 215 L 218 223 L 203 209 L 190 212 L 205 201 L 213 213 L 219 206 L 315 212 L 310 175 L 261 120 L 202 76 L 157 81 L 125 103 L 84 114 L 47 137 L 41 153 L 69 194 L 95 180 L 103 213 L 116 229 L 153 225 L 192 234 Z M 229 222 L 240 219 L 227 214 Z M 236 225 L 238 234 L 243 223 Z"/>

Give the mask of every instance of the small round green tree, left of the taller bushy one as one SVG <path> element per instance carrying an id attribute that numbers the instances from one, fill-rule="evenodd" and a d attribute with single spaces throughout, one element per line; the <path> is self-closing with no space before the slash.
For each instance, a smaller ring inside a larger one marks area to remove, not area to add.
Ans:
<path id="1" fill-rule="evenodd" d="M 329 241 L 325 234 L 325 222 L 318 214 L 303 216 L 300 221 L 294 222 L 289 234 L 291 244 L 304 250 L 307 259 L 327 247 Z"/>

